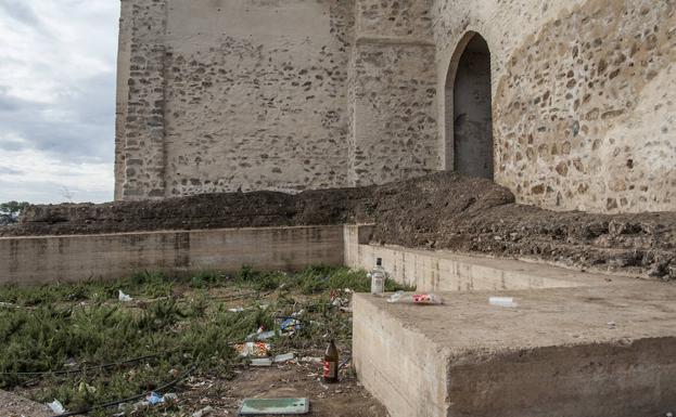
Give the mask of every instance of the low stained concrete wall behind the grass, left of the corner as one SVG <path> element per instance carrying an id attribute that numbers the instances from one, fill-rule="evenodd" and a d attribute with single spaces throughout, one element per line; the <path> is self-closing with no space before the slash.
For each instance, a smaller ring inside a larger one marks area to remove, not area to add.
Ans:
<path id="1" fill-rule="evenodd" d="M 0 284 L 114 279 L 144 270 L 291 271 L 343 260 L 343 226 L 0 238 Z"/>

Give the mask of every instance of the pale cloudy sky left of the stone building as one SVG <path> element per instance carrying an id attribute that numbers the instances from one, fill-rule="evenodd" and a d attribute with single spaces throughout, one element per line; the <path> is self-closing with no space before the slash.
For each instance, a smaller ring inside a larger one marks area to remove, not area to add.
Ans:
<path id="1" fill-rule="evenodd" d="M 0 0 L 0 203 L 113 198 L 119 1 Z"/>

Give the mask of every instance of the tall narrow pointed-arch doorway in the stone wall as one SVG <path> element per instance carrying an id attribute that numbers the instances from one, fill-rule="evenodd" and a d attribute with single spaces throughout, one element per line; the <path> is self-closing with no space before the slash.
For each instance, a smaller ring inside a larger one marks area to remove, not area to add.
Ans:
<path id="1" fill-rule="evenodd" d="M 457 172 L 493 180 L 488 43 L 476 32 L 468 34 L 454 57 L 446 77 L 446 166 L 452 157 Z"/>

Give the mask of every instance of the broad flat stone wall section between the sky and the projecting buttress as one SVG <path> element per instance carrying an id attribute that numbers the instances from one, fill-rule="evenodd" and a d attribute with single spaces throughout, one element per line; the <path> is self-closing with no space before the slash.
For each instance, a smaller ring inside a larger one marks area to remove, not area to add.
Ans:
<path id="1" fill-rule="evenodd" d="M 131 16 L 123 18 L 133 21 L 131 66 L 144 71 L 132 70 L 129 79 L 126 147 L 136 135 L 152 138 L 117 177 L 126 184 L 122 198 L 347 184 L 354 3 L 132 3 Z M 148 19 L 154 21 L 152 34 Z M 142 58 L 136 50 L 143 50 Z M 162 119 L 156 131 L 139 125 L 144 120 L 135 114 L 136 103 Z M 151 160 L 162 170 L 154 171 Z"/>

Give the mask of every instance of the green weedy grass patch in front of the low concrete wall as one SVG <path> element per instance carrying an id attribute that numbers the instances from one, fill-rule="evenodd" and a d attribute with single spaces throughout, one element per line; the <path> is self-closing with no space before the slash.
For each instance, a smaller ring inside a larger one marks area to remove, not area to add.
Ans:
<path id="1" fill-rule="evenodd" d="M 332 305 L 331 297 L 369 286 L 363 271 L 346 268 L 288 274 L 244 266 L 231 275 L 142 272 L 111 283 L 0 287 L 0 302 L 12 304 L 0 307 L 0 388 L 28 386 L 34 400 L 59 399 L 78 411 L 146 392 L 191 366 L 196 375 L 231 378 L 242 362 L 233 344 L 260 327 L 279 328 L 279 317 L 296 314 L 303 327 L 294 337 L 273 338 L 275 353 L 321 350 L 327 336 L 348 346 L 350 315 Z M 410 289 L 390 281 L 386 288 Z M 119 302 L 118 290 L 133 301 Z M 245 310 L 230 312 L 232 307 Z M 88 369 L 53 374 L 74 368 Z"/>

